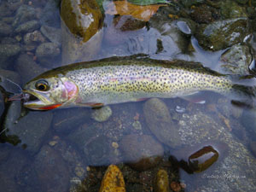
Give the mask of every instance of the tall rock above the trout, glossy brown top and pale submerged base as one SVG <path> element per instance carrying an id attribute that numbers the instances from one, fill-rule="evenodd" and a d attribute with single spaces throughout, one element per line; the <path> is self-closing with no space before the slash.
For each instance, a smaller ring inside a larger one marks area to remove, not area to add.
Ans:
<path id="1" fill-rule="evenodd" d="M 61 2 L 62 63 L 88 61 L 102 42 L 102 12 L 95 0 Z"/>

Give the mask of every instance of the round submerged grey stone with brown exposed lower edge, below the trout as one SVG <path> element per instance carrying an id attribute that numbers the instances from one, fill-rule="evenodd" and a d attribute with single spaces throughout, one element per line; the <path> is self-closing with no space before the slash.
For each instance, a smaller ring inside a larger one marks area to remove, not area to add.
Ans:
<path id="1" fill-rule="evenodd" d="M 124 153 L 124 161 L 138 171 L 157 166 L 164 154 L 161 144 L 149 135 L 127 135 L 122 138 L 119 146 Z"/>

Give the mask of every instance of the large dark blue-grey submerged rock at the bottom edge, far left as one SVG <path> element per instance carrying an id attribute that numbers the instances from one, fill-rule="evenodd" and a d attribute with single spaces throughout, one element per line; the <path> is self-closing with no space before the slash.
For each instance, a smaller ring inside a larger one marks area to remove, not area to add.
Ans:
<path id="1" fill-rule="evenodd" d="M 24 167 L 19 178 L 23 191 L 67 191 L 69 183 L 67 163 L 54 148 L 44 145 L 32 165 Z"/>

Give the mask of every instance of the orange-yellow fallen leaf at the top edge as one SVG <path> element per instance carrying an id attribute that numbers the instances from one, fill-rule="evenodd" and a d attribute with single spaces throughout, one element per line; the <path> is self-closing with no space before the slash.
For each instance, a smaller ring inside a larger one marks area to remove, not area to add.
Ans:
<path id="1" fill-rule="evenodd" d="M 127 1 L 115 1 L 108 4 L 105 13 L 109 15 L 131 15 L 139 20 L 148 21 L 161 6 L 166 6 L 166 4 L 137 5 Z"/>

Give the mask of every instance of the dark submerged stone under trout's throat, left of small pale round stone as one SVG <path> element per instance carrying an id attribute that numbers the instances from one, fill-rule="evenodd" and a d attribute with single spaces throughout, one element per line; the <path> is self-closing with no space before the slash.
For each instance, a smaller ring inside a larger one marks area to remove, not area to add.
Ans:
<path id="1" fill-rule="evenodd" d="M 67 108 L 55 110 L 53 128 L 56 132 L 69 133 L 79 128 L 90 119 L 89 108 Z"/>

